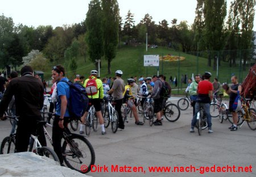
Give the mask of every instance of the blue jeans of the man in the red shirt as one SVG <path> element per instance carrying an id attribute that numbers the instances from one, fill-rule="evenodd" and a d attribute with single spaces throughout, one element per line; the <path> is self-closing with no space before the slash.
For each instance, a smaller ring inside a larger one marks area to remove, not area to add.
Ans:
<path id="1" fill-rule="evenodd" d="M 193 119 L 191 122 L 191 128 L 194 128 L 196 125 L 197 112 L 199 111 L 200 106 L 204 108 L 205 115 L 207 116 L 208 129 L 211 129 L 212 117 L 210 116 L 210 103 L 199 103 L 199 102 L 196 102 L 196 105 L 195 105 L 195 113 L 193 115 Z"/>

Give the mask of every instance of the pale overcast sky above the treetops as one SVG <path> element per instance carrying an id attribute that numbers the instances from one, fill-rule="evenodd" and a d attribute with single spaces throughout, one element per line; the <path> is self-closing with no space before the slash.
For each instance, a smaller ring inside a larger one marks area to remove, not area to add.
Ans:
<path id="1" fill-rule="evenodd" d="M 228 0 L 228 6 L 231 0 Z M 89 0 L 0 0 L 0 14 L 11 17 L 15 24 L 63 26 L 80 23 L 86 18 Z M 158 24 L 166 19 L 168 23 L 176 18 L 179 23 L 187 20 L 192 24 L 195 18 L 196 0 L 118 0 L 120 15 L 125 19 L 130 10 L 135 24 L 145 14 L 150 14 Z M 256 18 L 254 18 L 256 31 Z"/>

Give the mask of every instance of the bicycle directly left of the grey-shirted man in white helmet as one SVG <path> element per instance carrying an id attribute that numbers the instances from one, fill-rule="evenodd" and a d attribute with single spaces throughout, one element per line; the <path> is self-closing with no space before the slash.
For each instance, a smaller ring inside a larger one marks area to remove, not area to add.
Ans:
<path id="1" fill-rule="evenodd" d="M 114 103 L 112 96 L 109 96 L 109 98 L 105 99 L 105 108 L 104 113 L 102 114 L 104 119 L 104 126 L 105 128 L 108 128 L 111 122 L 112 132 L 115 133 L 118 129 L 118 113 L 117 111 L 115 111 L 115 108 L 113 107 Z"/>

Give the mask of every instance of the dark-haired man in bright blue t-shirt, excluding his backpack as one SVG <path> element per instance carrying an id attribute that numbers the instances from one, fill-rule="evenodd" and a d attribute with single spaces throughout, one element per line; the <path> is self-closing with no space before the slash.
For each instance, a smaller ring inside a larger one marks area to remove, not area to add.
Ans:
<path id="1" fill-rule="evenodd" d="M 55 111 L 55 119 L 53 120 L 52 126 L 52 141 L 53 149 L 60 160 L 60 165 L 63 165 L 62 149 L 61 149 L 61 139 L 63 138 L 64 127 L 68 126 L 69 119 L 69 98 L 70 89 L 67 82 L 69 79 L 65 77 L 65 69 L 61 65 L 53 66 L 52 68 L 52 78 L 55 79 L 56 92 L 57 92 L 57 103 Z"/>

